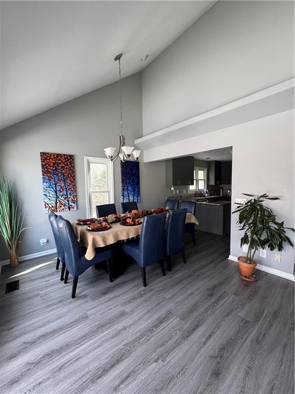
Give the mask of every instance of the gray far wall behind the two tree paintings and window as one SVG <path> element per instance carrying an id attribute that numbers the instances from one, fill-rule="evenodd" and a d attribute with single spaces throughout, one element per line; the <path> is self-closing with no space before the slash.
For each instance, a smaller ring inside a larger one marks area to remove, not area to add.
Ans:
<path id="1" fill-rule="evenodd" d="M 142 136 L 141 73 L 124 78 L 123 129 L 127 144 Z M 83 95 L 78 99 L 31 117 L 0 132 L 0 168 L 16 180 L 24 200 L 26 230 L 20 255 L 54 248 L 53 237 L 44 212 L 40 152 L 74 154 L 78 210 L 65 212 L 71 221 L 86 216 L 84 156 L 106 157 L 103 148 L 118 146 L 118 83 Z M 13 175 L 12 175 L 13 174 Z M 120 162 L 114 163 L 115 203 L 120 211 Z M 140 161 L 140 207 L 164 204 L 164 163 Z M 39 239 L 49 243 L 40 246 Z M 0 248 L 0 261 L 8 259 Z"/>

